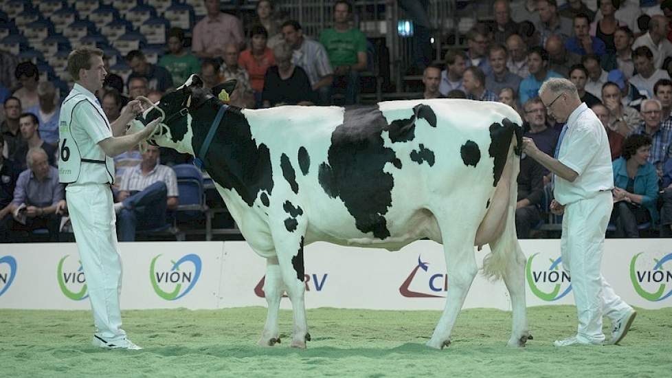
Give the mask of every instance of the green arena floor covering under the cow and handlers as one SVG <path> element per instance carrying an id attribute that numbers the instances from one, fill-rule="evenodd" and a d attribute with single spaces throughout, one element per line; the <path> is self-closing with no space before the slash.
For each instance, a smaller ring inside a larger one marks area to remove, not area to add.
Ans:
<path id="1" fill-rule="evenodd" d="M 89 311 L 0 310 L 5 377 L 669 377 L 672 308 L 642 310 L 621 346 L 555 348 L 576 331 L 574 307 L 532 307 L 534 340 L 506 348 L 511 313 L 462 311 L 453 344 L 425 347 L 437 311 L 308 311 L 313 341 L 256 346 L 266 309 L 124 311 L 124 329 L 143 351 L 91 346 Z M 606 327 L 607 325 L 605 325 Z"/>

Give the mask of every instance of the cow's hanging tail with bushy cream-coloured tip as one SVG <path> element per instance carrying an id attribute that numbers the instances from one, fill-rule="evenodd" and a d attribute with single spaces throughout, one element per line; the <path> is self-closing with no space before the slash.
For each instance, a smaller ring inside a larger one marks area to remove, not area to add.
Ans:
<path id="1" fill-rule="evenodd" d="M 525 266 L 525 256 L 518 243 L 515 232 L 515 206 L 518 196 L 517 177 L 520 170 L 520 149 L 522 148 L 522 127 L 515 125 L 515 140 L 517 146 L 509 150 L 507 164 L 513 164 L 511 174 L 508 177 L 508 207 L 504 216 L 504 227 L 502 233 L 496 236 L 489 243 L 491 253 L 483 260 L 483 275 L 486 278 L 498 280 L 511 267 L 511 264 L 518 267 Z M 513 138 L 512 138 L 513 139 Z M 511 141 L 514 143 L 513 140 Z M 521 271 L 522 274 L 522 271 Z"/>

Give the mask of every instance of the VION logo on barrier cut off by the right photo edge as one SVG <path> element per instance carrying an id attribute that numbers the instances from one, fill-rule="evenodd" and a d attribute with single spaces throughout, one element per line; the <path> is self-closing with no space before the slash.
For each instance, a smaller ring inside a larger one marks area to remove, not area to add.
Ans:
<path id="1" fill-rule="evenodd" d="M 651 302 L 658 302 L 669 298 L 672 295 L 672 289 L 665 293 L 665 286 L 672 283 L 672 271 L 669 270 L 671 264 L 667 265 L 668 269 L 663 269 L 663 265 L 672 261 L 672 254 L 667 254 L 660 260 L 653 259 L 653 267 L 651 269 L 637 269 L 637 259 L 642 252 L 632 256 L 630 260 L 630 280 L 635 287 L 635 291 L 644 299 Z M 644 287 L 653 289 L 647 291 Z M 658 288 L 658 289 L 656 289 Z"/>

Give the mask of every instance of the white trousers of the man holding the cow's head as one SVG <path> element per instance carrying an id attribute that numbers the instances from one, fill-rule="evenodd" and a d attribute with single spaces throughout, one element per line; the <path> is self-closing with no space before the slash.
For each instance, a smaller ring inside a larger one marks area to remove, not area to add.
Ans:
<path id="1" fill-rule="evenodd" d="M 119 293 L 122 263 L 117 248 L 112 192 L 107 185 L 68 186 L 68 211 L 87 279 L 96 335 L 125 337 Z"/>

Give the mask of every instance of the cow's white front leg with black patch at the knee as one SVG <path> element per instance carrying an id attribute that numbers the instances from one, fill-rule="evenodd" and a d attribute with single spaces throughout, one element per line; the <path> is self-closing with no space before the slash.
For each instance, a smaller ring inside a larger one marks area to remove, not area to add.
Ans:
<path id="1" fill-rule="evenodd" d="M 306 341 L 311 340 L 311 335 L 308 333 L 306 305 L 304 303 L 306 284 L 304 283 L 303 245 L 306 222 L 302 215 L 294 219 L 297 223 L 292 222 L 291 226 L 288 227 L 287 222 L 283 222 L 280 227 L 271 231 L 271 234 L 273 235 L 273 243 L 276 245 L 280 275 L 289 300 L 291 300 L 294 315 L 291 346 L 305 348 Z"/>

